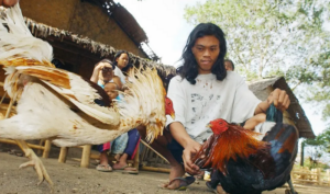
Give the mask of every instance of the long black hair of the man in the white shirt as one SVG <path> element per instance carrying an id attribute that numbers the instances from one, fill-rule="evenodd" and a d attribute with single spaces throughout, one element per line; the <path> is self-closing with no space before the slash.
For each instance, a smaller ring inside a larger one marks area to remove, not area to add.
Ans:
<path id="1" fill-rule="evenodd" d="M 196 77 L 198 76 L 198 64 L 195 59 L 191 48 L 195 45 L 195 42 L 199 37 L 213 35 L 219 39 L 220 43 L 220 54 L 215 65 L 212 66 L 211 72 L 217 76 L 217 80 L 223 80 L 227 76 L 224 68 L 224 56 L 227 53 L 227 45 L 224 33 L 222 30 L 212 23 L 200 23 L 198 24 L 193 32 L 190 33 L 186 46 L 183 52 L 182 59 L 184 65 L 177 68 L 177 73 L 180 75 L 183 79 L 187 79 L 191 84 L 196 83 Z"/>

